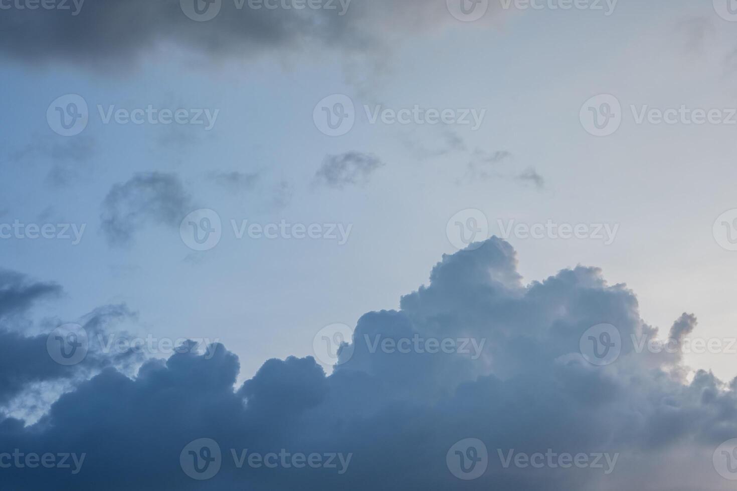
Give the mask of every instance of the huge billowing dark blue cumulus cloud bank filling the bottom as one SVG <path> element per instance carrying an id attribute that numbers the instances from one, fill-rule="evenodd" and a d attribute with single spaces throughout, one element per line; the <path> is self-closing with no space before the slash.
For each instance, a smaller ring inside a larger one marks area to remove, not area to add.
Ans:
<path id="1" fill-rule="evenodd" d="M 237 387 L 237 357 L 214 345 L 210 358 L 177 353 L 147 361 L 134 378 L 107 368 L 63 395 L 35 425 L 1 421 L 0 441 L 11 451 L 86 454 L 74 475 L 4 469 L 4 488 L 730 489 L 712 456 L 737 435 L 737 383 L 701 371 L 689 381 L 679 355 L 638 350 L 633 339 L 657 329 L 640 318 L 635 294 L 609 285 L 599 269 L 578 266 L 525 284 L 509 244 L 494 238 L 475 245 L 445 255 L 399 310 L 364 315 L 331 375 L 312 357 L 270 360 Z M 603 323 L 621 342 L 618 357 L 598 366 L 582 356 L 580 342 Z M 685 314 L 670 334 L 683 339 L 695 326 Z M 475 339 L 483 347 L 376 349 L 384 339 L 401 346 L 416 338 Z M 195 481 L 181 462 L 214 458 L 183 452 L 202 438 L 220 448 L 220 469 Z M 447 454 L 467 438 L 488 449 L 488 468 L 462 481 Z M 351 458 L 344 473 L 287 468 L 281 459 L 276 468 L 248 460 L 238 467 L 245 449 Z M 605 474 L 505 467 L 498 451 L 619 456 Z"/>

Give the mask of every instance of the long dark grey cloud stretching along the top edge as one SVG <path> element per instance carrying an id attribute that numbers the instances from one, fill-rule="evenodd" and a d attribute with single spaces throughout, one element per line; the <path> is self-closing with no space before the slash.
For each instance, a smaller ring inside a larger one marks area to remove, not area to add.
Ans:
<path id="1" fill-rule="evenodd" d="M 0 49 L 27 63 L 64 61 L 115 68 L 171 46 L 206 57 L 240 59 L 279 50 L 360 54 L 384 50 L 408 32 L 433 32 L 460 24 L 444 1 L 322 0 L 319 4 L 335 8 L 298 10 L 254 9 L 248 0 L 245 4 L 223 0 L 214 4 L 222 4 L 217 16 L 206 22 L 188 18 L 178 0 L 65 3 L 70 10 L 4 10 Z M 486 19 L 492 21 L 495 13 L 490 11 Z"/>

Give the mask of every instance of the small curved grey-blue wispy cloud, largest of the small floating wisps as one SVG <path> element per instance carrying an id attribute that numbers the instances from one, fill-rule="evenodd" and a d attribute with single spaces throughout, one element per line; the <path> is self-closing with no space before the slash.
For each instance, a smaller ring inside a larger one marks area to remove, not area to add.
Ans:
<path id="1" fill-rule="evenodd" d="M 111 245 L 126 245 L 149 223 L 177 227 L 191 197 L 176 174 L 140 173 L 116 184 L 102 203 L 102 231 Z"/>

